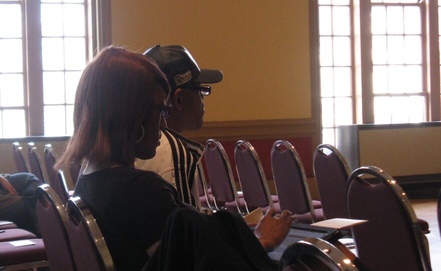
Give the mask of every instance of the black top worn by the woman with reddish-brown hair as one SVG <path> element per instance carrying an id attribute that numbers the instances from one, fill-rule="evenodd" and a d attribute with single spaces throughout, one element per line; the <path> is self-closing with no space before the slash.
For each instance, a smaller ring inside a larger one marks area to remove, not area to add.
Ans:
<path id="1" fill-rule="evenodd" d="M 117 270 L 139 271 L 169 214 L 184 206 L 176 189 L 158 174 L 126 166 L 81 174 L 74 196 L 95 217 Z"/>

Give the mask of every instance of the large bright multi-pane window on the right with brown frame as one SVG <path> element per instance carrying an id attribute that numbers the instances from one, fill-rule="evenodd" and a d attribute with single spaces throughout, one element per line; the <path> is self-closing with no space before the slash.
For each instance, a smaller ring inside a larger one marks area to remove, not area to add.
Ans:
<path id="1" fill-rule="evenodd" d="M 317 3 L 323 142 L 341 124 L 440 119 L 437 1 Z"/>

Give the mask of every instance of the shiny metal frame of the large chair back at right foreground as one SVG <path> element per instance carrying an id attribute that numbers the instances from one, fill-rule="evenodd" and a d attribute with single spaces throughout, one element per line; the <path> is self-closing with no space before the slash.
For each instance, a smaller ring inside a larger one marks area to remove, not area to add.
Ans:
<path id="1" fill-rule="evenodd" d="M 430 258 L 428 254 L 428 245 L 426 243 L 427 239 L 424 239 L 424 234 L 420 229 L 419 222 L 416 218 L 415 211 L 413 210 L 412 204 L 410 200 L 407 198 L 406 193 L 403 191 L 401 186 L 397 183 L 397 181 L 390 176 L 387 172 L 378 168 L 376 166 L 362 166 L 358 169 L 355 169 L 349 176 L 347 187 L 349 187 L 352 181 L 359 178 L 363 174 L 368 174 L 377 177 L 381 182 L 386 184 L 386 186 L 396 195 L 399 199 L 399 202 L 403 206 L 403 210 L 406 213 L 409 221 L 412 223 L 412 233 L 415 238 L 419 258 L 421 260 L 421 264 L 423 270 L 431 270 L 430 267 Z"/>

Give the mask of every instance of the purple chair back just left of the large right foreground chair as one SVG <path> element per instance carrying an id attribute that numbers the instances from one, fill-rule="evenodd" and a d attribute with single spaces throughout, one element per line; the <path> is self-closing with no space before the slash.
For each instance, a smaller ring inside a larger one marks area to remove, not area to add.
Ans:
<path id="1" fill-rule="evenodd" d="M 345 158 L 334 146 L 321 144 L 315 149 L 313 166 L 326 219 L 347 218 L 346 184 L 350 170 Z"/>

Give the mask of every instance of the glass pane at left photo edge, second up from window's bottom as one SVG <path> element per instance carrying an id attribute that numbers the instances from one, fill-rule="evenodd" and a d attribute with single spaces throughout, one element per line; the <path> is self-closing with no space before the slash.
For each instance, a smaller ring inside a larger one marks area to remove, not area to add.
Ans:
<path id="1" fill-rule="evenodd" d="M 0 74 L 0 106 L 24 105 L 22 74 Z"/>

